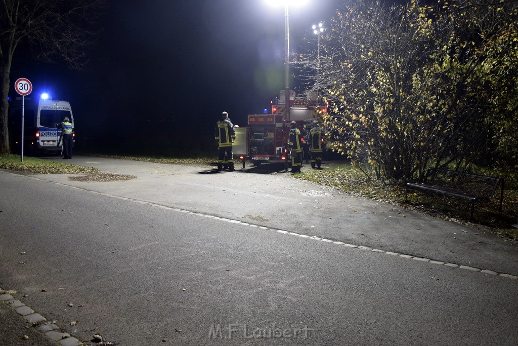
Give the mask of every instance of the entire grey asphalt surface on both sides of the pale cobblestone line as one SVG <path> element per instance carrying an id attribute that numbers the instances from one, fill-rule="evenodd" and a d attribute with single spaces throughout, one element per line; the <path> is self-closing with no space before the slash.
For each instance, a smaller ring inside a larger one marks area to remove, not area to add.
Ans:
<path id="1" fill-rule="evenodd" d="M 80 340 L 518 343 L 518 280 L 384 253 L 515 275 L 515 245 L 483 229 L 282 172 L 72 163 L 137 178 L 0 172 L 0 287 Z"/>

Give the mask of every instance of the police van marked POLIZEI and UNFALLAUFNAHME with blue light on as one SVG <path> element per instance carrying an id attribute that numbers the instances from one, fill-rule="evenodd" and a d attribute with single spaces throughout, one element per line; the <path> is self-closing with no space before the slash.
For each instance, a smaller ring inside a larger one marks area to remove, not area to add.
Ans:
<path id="1" fill-rule="evenodd" d="M 24 152 L 31 154 L 61 153 L 63 143 L 59 143 L 59 141 L 63 119 L 68 117 L 74 126 L 74 115 L 70 103 L 57 100 L 33 101 L 25 98 L 23 108 Z M 21 151 L 21 123 L 22 102 L 21 98 L 17 98 L 9 105 L 8 128 L 11 150 L 18 153 Z M 72 146 L 74 146 L 74 132 L 72 136 Z"/>

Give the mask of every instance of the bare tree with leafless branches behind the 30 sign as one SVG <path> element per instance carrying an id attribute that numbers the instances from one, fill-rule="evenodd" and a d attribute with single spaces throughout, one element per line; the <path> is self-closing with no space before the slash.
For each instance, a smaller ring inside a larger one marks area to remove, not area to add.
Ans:
<path id="1" fill-rule="evenodd" d="M 80 69 L 102 8 L 104 0 L 0 0 L 0 155 L 10 151 L 7 96 L 16 49 L 27 44 L 36 59 Z"/>

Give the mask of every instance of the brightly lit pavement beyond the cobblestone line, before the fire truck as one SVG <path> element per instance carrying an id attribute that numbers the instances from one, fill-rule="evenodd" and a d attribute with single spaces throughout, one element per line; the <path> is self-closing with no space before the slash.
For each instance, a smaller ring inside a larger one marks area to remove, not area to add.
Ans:
<path id="1" fill-rule="evenodd" d="M 55 158 L 50 158 L 55 159 Z M 35 178 L 356 246 L 518 275 L 518 245 L 482 226 L 466 226 L 398 206 L 338 193 L 284 172 L 282 165 L 217 172 L 215 165 L 159 164 L 80 157 L 69 163 L 136 179 L 72 181 Z M 336 161 L 324 162 L 325 169 Z M 268 171 L 268 169 L 271 169 Z M 303 171 L 311 169 L 303 165 Z M 278 171 L 276 171 L 278 170 Z"/>

